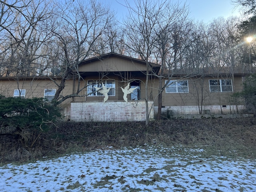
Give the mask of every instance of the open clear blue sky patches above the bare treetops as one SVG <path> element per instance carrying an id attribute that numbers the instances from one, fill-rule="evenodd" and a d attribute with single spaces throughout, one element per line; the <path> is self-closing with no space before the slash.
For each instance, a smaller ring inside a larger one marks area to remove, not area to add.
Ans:
<path id="1" fill-rule="evenodd" d="M 121 4 L 125 4 L 125 0 L 100 0 L 103 3 L 110 4 L 111 8 L 116 11 L 116 14 L 120 19 L 126 15 L 127 8 Z M 130 5 L 134 4 L 134 0 L 128 0 Z M 119 3 L 118 3 L 119 2 Z M 231 3 L 231 0 L 173 0 L 173 2 L 179 2 L 188 5 L 190 9 L 190 18 L 195 20 L 203 20 L 209 22 L 214 18 L 223 16 L 227 18 L 231 15 L 239 16 L 238 8 L 235 9 L 235 5 Z"/>

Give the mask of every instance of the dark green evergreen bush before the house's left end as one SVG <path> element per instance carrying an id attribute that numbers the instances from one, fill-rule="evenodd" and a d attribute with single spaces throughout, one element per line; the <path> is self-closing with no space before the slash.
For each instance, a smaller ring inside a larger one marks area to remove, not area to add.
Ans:
<path id="1" fill-rule="evenodd" d="M 47 124 L 61 116 L 60 110 L 43 98 L 6 98 L 0 96 L 0 136 L 11 135 L 31 148 Z"/>

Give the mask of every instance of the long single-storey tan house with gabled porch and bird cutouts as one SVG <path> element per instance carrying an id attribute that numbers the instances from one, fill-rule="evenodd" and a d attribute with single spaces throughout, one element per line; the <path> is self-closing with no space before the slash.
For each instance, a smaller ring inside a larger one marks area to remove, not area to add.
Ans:
<path id="1" fill-rule="evenodd" d="M 149 119 L 158 111 L 158 74 L 160 65 L 143 60 L 108 53 L 84 60 L 77 76 L 65 82 L 61 95 L 79 96 L 62 102 L 66 118 L 73 121 L 144 121 L 146 119 L 146 91 Z M 233 92 L 242 90 L 244 74 L 173 74 L 162 79 L 167 84 L 162 92 L 162 115 L 174 114 L 236 114 L 244 105 L 234 101 Z M 61 77 L 0 77 L 0 94 L 4 96 L 52 100 L 56 83 Z M 56 82 L 56 83 L 55 83 Z M 78 86 L 79 85 L 79 86 Z"/>

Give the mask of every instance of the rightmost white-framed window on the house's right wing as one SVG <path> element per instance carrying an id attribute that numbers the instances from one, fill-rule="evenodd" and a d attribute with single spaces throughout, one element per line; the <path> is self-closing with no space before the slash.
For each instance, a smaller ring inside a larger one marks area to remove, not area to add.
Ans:
<path id="1" fill-rule="evenodd" d="M 232 92 L 232 81 L 231 79 L 216 79 L 209 80 L 210 92 Z"/>

